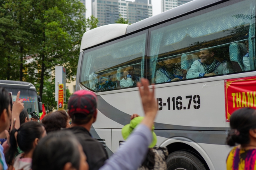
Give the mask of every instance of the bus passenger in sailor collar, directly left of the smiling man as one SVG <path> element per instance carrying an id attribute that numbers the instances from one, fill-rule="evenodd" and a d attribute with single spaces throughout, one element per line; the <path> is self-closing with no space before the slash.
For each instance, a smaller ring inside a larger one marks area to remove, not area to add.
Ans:
<path id="1" fill-rule="evenodd" d="M 175 67 L 177 59 L 162 61 L 163 66 L 156 70 L 156 83 L 173 82 L 183 78 L 183 74 Z"/>

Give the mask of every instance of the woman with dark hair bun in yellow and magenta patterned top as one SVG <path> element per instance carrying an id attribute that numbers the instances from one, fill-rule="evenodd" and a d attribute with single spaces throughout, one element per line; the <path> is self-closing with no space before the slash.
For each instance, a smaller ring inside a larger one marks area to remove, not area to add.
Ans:
<path id="1" fill-rule="evenodd" d="M 235 146 L 226 160 L 227 170 L 256 170 L 256 110 L 245 107 L 230 117 L 226 143 Z"/>

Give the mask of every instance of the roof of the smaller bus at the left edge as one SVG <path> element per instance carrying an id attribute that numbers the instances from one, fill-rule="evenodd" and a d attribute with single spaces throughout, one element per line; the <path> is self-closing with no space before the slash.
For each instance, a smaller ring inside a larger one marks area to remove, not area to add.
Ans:
<path id="1" fill-rule="evenodd" d="M 20 82 L 20 81 L 12 81 L 12 80 L 0 80 L 0 86 L 4 88 L 24 88 L 24 89 L 32 89 L 36 91 L 35 86 L 29 82 Z"/>

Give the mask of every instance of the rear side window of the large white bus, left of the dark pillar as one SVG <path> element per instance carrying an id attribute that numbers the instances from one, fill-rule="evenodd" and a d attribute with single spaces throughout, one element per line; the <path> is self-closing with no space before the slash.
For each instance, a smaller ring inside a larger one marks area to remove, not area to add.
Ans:
<path id="1" fill-rule="evenodd" d="M 136 87 L 144 77 L 147 31 L 84 51 L 80 82 L 94 92 Z"/>

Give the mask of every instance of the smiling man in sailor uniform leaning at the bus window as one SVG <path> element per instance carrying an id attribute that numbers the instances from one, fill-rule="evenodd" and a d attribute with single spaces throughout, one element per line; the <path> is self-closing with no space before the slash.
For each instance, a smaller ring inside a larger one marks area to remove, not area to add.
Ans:
<path id="1" fill-rule="evenodd" d="M 220 62 L 214 59 L 214 49 L 202 49 L 198 60 L 191 65 L 186 78 L 214 76 L 232 73 L 232 64 L 228 61 Z"/>

